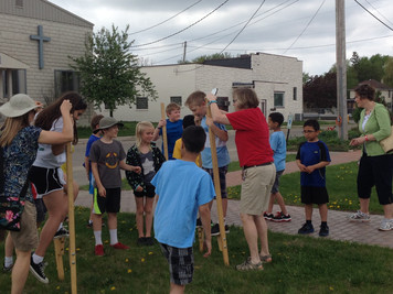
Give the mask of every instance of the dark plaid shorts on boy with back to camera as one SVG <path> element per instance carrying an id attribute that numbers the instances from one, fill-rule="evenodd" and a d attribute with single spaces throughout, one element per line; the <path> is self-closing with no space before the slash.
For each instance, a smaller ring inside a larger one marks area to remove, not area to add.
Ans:
<path id="1" fill-rule="evenodd" d="M 194 273 L 192 247 L 177 248 L 163 243 L 160 243 L 160 247 L 169 264 L 171 283 L 177 285 L 190 284 Z"/>

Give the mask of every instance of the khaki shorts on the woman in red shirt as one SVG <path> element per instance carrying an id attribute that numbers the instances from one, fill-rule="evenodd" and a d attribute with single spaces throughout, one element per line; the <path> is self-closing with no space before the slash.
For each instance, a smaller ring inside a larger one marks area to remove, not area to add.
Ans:
<path id="1" fill-rule="evenodd" d="M 243 170 L 241 213 L 262 215 L 267 209 L 275 179 L 276 167 L 273 163 Z"/>

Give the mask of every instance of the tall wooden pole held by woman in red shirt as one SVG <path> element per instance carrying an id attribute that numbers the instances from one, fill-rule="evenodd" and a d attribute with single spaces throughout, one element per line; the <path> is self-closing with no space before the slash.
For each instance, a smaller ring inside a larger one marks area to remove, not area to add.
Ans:
<path id="1" fill-rule="evenodd" d="M 209 100 L 206 99 L 206 105 Z M 212 111 L 210 106 L 208 107 L 208 117 L 212 117 Z M 225 224 L 224 224 L 224 211 L 222 209 L 222 197 L 221 197 L 221 185 L 220 185 L 220 174 L 219 174 L 219 161 L 217 161 L 217 150 L 215 148 L 215 135 L 213 131 L 209 128 L 209 139 L 210 139 L 210 150 L 212 152 L 212 164 L 213 164 L 213 176 L 214 176 L 214 188 L 215 188 L 215 199 L 217 204 L 217 215 L 219 215 L 219 226 L 220 226 L 220 236 L 219 244 L 222 244 L 222 254 L 224 259 L 224 264 L 230 265 L 230 258 L 227 254 L 226 246 L 226 233 L 225 233 Z M 221 249 L 221 248 L 220 248 Z"/>

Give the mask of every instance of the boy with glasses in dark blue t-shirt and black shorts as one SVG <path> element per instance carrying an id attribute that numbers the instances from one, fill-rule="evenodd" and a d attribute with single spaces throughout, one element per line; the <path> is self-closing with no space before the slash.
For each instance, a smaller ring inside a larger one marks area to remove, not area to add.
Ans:
<path id="1" fill-rule="evenodd" d="M 299 145 L 296 164 L 300 170 L 301 203 L 305 204 L 306 222 L 298 233 L 311 233 L 312 204 L 319 207 L 321 226 L 320 237 L 329 236 L 328 206 L 329 195 L 326 189 L 326 166 L 330 164 L 328 146 L 318 139 L 319 123 L 317 120 L 307 120 L 302 127 L 306 142 Z"/>

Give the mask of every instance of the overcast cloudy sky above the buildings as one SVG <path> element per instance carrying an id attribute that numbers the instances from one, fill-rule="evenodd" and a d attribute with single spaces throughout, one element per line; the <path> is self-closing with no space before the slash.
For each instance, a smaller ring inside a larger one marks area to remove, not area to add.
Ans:
<path id="1" fill-rule="evenodd" d="M 226 47 L 224 52 L 234 56 L 264 52 L 297 57 L 311 75 L 323 74 L 336 63 L 334 0 L 50 1 L 94 23 L 95 32 L 129 24 L 132 52 L 152 65 L 182 59 L 184 41 L 189 61 Z M 354 51 L 360 56 L 393 56 L 393 1 L 358 1 L 385 25 L 347 0 L 347 58 Z"/>

